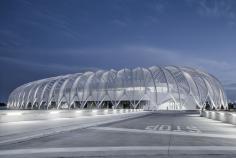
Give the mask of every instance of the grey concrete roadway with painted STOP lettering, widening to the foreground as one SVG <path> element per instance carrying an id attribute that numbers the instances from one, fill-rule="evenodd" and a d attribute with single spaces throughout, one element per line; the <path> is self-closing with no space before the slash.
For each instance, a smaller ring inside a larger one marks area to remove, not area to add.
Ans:
<path id="1" fill-rule="evenodd" d="M 0 157 L 236 157 L 236 127 L 197 113 L 149 113 L 0 145 Z"/>

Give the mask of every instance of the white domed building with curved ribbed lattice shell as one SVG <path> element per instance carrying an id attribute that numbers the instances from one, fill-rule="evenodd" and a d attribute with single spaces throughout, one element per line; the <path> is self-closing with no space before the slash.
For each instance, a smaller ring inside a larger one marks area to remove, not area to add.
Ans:
<path id="1" fill-rule="evenodd" d="M 98 70 L 26 83 L 9 96 L 11 109 L 196 109 L 227 106 L 221 83 L 189 67 Z"/>

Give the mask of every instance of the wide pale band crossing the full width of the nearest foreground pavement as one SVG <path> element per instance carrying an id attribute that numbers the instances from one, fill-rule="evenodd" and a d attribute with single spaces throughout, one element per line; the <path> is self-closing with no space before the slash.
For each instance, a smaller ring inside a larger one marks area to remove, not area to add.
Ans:
<path id="1" fill-rule="evenodd" d="M 120 151 L 164 151 L 168 155 L 167 150 L 169 146 L 99 146 L 99 147 L 65 147 L 65 148 L 32 148 L 32 149 L 12 149 L 0 150 L 0 155 L 30 155 L 30 154 L 43 154 L 43 153 L 78 153 L 81 152 L 120 152 Z M 176 154 L 192 155 L 203 154 L 232 154 L 236 153 L 236 146 L 170 146 L 170 152 Z M 180 151 L 180 153 L 178 153 Z M 182 152 L 181 152 L 182 151 Z M 184 151 L 192 151 L 185 153 Z M 194 151 L 197 151 L 194 153 Z M 208 151 L 208 152 L 207 152 Z M 184 153 L 183 153 L 184 152 Z"/>

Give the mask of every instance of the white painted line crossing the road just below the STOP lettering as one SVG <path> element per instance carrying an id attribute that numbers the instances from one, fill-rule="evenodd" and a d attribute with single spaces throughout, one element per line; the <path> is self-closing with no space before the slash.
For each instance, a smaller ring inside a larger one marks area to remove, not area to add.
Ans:
<path id="1" fill-rule="evenodd" d="M 147 133 L 147 134 L 164 134 L 164 135 L 236 139 L 236 135 L 228 135 L 228 134 L 226 135 L 226 134 L 191 133 L 191 132 L 176 132 L 176 131 L 154 131 L 154 130 L 143 130 L 143 129 L 115 128 L 115 127 L 90 127 L 89 129 L 104 130 L 104 131 L 116 131 L 116 132 L 141 133 L 141 134 Z"/>

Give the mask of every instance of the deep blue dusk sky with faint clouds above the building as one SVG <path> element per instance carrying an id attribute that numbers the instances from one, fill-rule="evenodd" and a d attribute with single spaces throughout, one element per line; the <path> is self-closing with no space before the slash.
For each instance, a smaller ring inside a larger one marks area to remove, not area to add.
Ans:
<path id="1" fill-rule="evenodd" d="M 235 0 L 1 0 L 0 101 L 17 86 L 96 69 L 183 65 L 236 100 Z"/>

